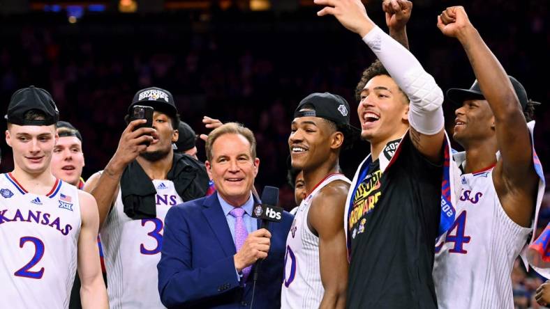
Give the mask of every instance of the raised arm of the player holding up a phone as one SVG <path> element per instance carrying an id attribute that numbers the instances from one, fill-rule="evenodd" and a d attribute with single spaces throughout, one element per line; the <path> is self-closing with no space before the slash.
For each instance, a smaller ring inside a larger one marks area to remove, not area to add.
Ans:
<path id="1" fill-rule="evenodd" d="M 147 145 L 142 143 L 153 141 L 149 135 L 156 130 L 149 127 L 135 129 L 137 125 L 145 123 L 147 120 L 134 120 L 128 124 L 128 127 L 122 132 L 117 152 L 114 152 L 105 170 L 101 173 L 92 175 L 84 184 L 84 191 L 91 193 L 96 198 L 99 211 L 99 226 L 101 227 L 107 219 L 114 199 L 117 198 L 119 190 L 120 177 L 124 168 L 130 164 L 141 152 L 147 149 Z"/>

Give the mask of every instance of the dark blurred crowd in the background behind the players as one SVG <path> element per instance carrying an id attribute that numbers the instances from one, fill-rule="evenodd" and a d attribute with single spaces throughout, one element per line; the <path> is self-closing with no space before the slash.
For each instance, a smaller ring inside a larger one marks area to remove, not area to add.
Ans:
<path id="1" fill-rule="evenodd" d="M 214 1 L 215 2 L 215 1 Z M 372 6 L 380 3 L 372 1 Z M 541 106 L 535 111 L 535 148 L 550 166 L 550 109 L 547 102 L 547 55 L 550 32 L 547 1 L 415 1 L 407 31 L 410 49 L 441 88 L 469 87 L 473 72 L 458 42 L 436 29 L 436 16 L 447 6 L 466 6 L 473 24 L 509 74 L 526 86 Z M 367 3 L 367 6 L 370 6 Z M 493 9 L 498 8 L 498 9 Z M 0 100 L 29 85 L 50 91 L 61 119 L 84 138 L 84 177 L 107 164 L 125 127 L 124 114 L 136 90 L 158 86 L 170 90 L 195 132 L 206 133 L 202 116 L 238 121 L 258 139 L 258 188 L 281 187 L 281 205 L 293 206 L 285 182 L 292 113 L 303 97 L 329 91 L 353 97 L 360 74 L 374 58 L 356 36 L 316 8 L 292 13 L 244 13 L 239 10 L 185 11 L 155 15 L 87 14 L 76 24 L 66 16 L 33 13 L 3 18 L 0 39 Z M 369 8 L 385 29 L 381 8 Z M 328 19 L 328 18 L 327 18 Z M 445 106 L 447 128 L 454 111 Z M 352 114 L 357 125 L 357 117 Z M 198 156 L 205 159 L 198 141 Z M 1 143 L 0 171 L 13 168 L 11 153 Z M 456 145 L 456 148 L 459 148 Z M 342 154 L 348 176 L 369 147 L 361 143 Z M 548 169 L 548 168 L 547 168 Z M 548 178 L 548 177 L 547 177 Z M 550 219 L 550 193 L 541 212 Z M 531 301 L 540 278 L 516 263 L 512 272 L 517 308 Z"/>

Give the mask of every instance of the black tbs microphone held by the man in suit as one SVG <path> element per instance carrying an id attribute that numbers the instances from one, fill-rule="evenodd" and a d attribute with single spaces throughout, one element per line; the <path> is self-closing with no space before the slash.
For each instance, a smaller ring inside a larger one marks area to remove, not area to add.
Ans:
<path id="1" fill-rule="evenodd" d="M 277 207 L 278 188 L 265 186 L 262 192 L 262 203 L 254 207 L 252 217 L 261 220 L 260 228 L 269 230 L 269 222 L 281 222 L 283 220 L 283 208 Z M 258 279 L 258 271 L 262 260 L 256 261 L 254 265 L 253 280 Z"/>

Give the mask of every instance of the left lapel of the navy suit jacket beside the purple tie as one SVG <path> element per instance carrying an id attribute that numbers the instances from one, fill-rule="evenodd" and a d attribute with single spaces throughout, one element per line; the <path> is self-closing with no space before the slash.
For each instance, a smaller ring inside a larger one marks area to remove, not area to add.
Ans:
<path id="1" fill-rule="evenodd" d="M 225 256 L 235 255 L 235 253 L 237 253 L 235 250 L 235 242 L 231 237 L 228 221 L 225 219 L 225 214 L 223 214 L 218 195 L 212 194 L 205 199 L 203 205 L 205 208 L 202 209 L 202 214 L 205 215 L 210 228 L 214 232 L 214 235 L 216 235 L 216 238 L 218 238 L 218 242 Z"/>

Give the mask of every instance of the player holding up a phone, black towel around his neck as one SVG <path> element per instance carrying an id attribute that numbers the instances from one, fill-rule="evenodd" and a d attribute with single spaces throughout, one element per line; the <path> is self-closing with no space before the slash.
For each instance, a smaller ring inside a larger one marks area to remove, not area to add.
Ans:
<path id="1" fill-rule="evenodd" d="M 200 162 L 174 154 L 179 116 L 170 92 L 139 90 L 128 115 L 135 105 L 153 107 L 153 127 L 129 122 L 105 170 L 84 190 L 98 200 L 110 308 L 164 308 L 156 264 L 165 215 L 173 205 L 205 196 L 209 178 Z"/>

